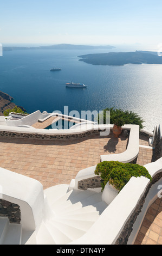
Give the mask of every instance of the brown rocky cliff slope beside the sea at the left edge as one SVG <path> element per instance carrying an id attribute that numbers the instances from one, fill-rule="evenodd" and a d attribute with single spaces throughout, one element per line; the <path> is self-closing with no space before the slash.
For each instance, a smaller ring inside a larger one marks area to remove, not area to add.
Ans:
<path id="1" fill-rule="evenodd" d="M 0 91 L 0 115 L 3 115 L 3 111 L 5 111 L 8 108 L 14 108 L 17 105 L 12 102 L 13 97 L 11 97 L 10 95 L 8 95 L 7 93 L 3 93 Z M 23 108 L 22 106 L 17 106 L 19 108 L 22 109 L 22 111 L 27 112 L 25 108 Z"/>

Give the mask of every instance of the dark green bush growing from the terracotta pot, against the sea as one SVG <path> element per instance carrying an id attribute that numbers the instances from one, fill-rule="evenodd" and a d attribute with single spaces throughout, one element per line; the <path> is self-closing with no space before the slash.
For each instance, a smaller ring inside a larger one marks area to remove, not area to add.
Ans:
<path id="1" fill-rule="evenodd" d="M 124 124 L 135 124 L 139 125 L 140 129 L 144 128 L 142 124 L 144 123 L 144 120 L 139 117 L 137 113 L 128 110 L 124 111 L 121 108 L 115 109 L 114 107 L 103 109 L 103 113 L 98 115 L 98 123 L 99 119 L 103 118 L 103 124 L 106 124 L 106 111 L 110 111 L 111 124 L 115 124 L 118 126 L 122 126 Z"/>

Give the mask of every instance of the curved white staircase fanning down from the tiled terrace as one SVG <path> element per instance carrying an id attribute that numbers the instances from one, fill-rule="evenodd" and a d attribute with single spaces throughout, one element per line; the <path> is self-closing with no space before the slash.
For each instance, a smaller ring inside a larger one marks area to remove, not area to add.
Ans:
<path id="1" fill-rule="evenodd" d="M 69 185 L 57 185 L 44 190 L 49 205 L 48 218 L 26 244 L 65 245 L 92 227 L 108 206 L 101 199 L 101 192 L 68 190 Z"/>

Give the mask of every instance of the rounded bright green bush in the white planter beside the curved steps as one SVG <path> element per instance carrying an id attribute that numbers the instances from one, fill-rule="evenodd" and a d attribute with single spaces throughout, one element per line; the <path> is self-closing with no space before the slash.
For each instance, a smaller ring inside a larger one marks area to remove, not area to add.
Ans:
<path id="1" fill-rule="evenodd" d="M 103 161 L 97 164 L 95 174 L 100 175 L 102 190 L 109 182 L 116 190 L 121 191 L 132 176 L 145 176 L 152 180 L 151 175 L 144 166 L 133 163 L 121 163 L 119 161 Z"/>

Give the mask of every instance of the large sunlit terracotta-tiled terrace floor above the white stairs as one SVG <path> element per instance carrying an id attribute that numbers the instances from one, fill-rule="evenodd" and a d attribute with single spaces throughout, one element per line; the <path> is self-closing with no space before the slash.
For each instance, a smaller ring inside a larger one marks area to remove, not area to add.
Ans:
<path id="1" fill-rule="evenodd" d="M 1 138 L 0 166 L 40 181 L 45 188 L 69 184 L 81 169 L 100 162 L 100 155 L 122 153 L 127 138 L 91 136 L 67 141 Z"/>

